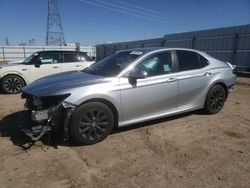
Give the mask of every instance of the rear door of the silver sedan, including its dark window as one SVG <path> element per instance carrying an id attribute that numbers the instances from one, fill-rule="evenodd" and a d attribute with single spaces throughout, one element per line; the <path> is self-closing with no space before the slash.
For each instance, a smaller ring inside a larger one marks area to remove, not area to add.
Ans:
<path id="1" fill-rule="evenodd" d="M 202 107 L 211 78 L 206 71 L 208 60 L 193 51 L 176 50 L 175 55 L 178 62 L 178 109 Z"/>

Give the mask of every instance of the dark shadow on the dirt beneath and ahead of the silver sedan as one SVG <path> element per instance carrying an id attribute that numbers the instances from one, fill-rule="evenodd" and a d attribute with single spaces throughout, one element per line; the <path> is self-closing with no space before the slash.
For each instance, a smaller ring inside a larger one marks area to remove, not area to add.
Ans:
<path id="1" fill-rule="evenodd" d="M 35 143 L 28 136 L 26 136 L 19 128 L 22 123 L 23 111 L 15 112 L 4 117 L 0 121 L 0 136 L 8 137 L 12 143 L 16 146 L 21 147 L 23 150 L 28 150 Z M 151 120 L 143 123 L 137 123 L 125 127 L 115 128 L 112 134 L 118 134 L 121 132 L 126 132 L 134 129 L 139 129 L 142 127 L 153 126 L 154 124 L 169 122 L 175 119 L 190 116 L 192 114 L 202 114 L 200 111 L 194 111 L 189 113 L 184 113 L 180 115 L 175 115 L 171 117 L 164 117 L 156 120 Z M 74 147 L 79 146 L 71 142 L 70 140 L 64 141 L 61 134 L 50 133 L 45 134 L 39 141 L 41 141 L 45 146 L 53 147 L 57 149 L 58 146 Z"/>

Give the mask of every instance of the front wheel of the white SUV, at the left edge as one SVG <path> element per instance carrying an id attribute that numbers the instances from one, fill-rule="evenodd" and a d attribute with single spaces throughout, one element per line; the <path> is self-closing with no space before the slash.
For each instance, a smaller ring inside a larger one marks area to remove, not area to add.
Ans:
<path id="1" fill-rule="evenodd" d="M 1 81 L 2 90 L 9 94 L 20 93 L 24 86 L 25 81 L 17 75 L 7 75 Z"/>

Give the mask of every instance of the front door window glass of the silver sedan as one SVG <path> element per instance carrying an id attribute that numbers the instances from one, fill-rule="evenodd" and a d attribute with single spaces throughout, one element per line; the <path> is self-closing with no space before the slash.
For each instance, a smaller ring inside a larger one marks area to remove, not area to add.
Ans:
<path id="1" fill-rule="evenodd" d="M 153 54 L 139 63 L 136 68 L 145 70 L 149 77 L 172 73 L 171 52 Z"/>

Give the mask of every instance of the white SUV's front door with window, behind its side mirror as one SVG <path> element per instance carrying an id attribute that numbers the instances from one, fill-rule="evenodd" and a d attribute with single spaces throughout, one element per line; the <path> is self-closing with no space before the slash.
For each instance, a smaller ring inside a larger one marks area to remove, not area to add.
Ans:
<path id="1" fill-rule="evenodd" d="M 61 72 L 61 52 L 41 52 L 35 61 L 42 64 L 39 67 L 30 66 L 30 80 Z"/>

